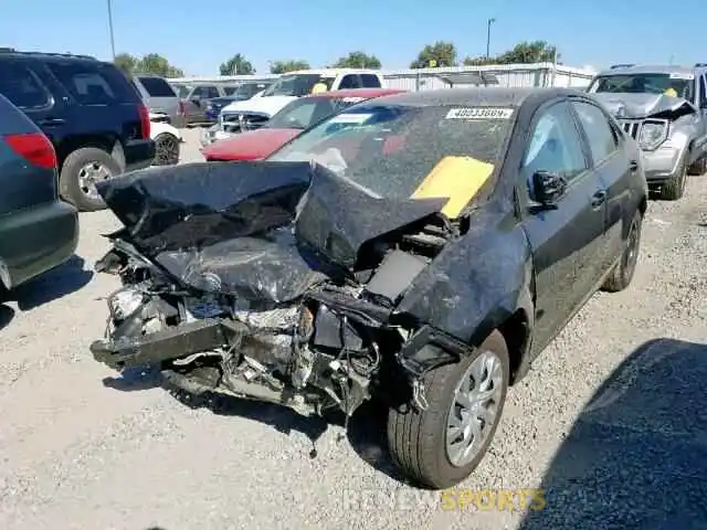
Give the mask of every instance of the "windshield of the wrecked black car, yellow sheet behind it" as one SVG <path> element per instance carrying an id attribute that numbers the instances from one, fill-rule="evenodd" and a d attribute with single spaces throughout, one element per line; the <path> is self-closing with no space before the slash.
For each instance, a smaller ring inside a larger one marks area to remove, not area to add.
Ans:
<path id="1" fill-rule="evenodd" d="M 407 199 L 442 160 L 455 173 L 498 163 L 514 110 L 485 108 L 361 104 L 303 132 L 268 159 L 315 160 L 373 195 Z"/>

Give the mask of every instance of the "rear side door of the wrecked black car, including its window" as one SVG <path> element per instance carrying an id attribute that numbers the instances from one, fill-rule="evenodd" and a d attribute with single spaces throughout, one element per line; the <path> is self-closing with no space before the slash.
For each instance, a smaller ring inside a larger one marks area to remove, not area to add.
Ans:
<path id="1" fill-rule="evenodd" d="M 625 229 L 639 206 L 634 186 L 639 165 L 630 158 L 624 136 L 603 109 L 585 99 L 573 99 L 572 108 L 589 145 L 591 167 L 606 192 L 604 246 L 597 256 L 602 258 L 601 271 L 606 273 L 624 250 Z"/>

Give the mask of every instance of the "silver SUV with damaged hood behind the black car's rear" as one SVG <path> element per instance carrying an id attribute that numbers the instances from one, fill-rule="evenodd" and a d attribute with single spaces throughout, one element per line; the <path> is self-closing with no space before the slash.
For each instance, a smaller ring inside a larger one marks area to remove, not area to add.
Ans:
<path id="1" fill-rule="evenodd" d="M 616 64 L 588 92 L 639 142 L 648 186 L 663 199 L 679 199 L 686 176 L 707 171 L 707 64 Z"/>

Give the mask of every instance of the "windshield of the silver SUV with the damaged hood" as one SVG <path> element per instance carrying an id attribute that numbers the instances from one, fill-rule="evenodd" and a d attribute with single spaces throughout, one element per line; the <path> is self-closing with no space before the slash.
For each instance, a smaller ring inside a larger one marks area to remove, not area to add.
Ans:
<path id="1" fill-rule="evenodd" d="M 665 94 L 671 88 L 677 97 L 687 100 L 695 94 L 695 76 L 693 74 L 615 74 L 597 77 L 589 92 L 610 92 L 629 94 Z"/>

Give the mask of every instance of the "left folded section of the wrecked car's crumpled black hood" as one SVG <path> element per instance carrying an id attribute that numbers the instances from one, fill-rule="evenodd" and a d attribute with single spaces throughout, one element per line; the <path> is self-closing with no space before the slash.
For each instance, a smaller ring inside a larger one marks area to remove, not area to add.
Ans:
<path id="1" fill-rule="evenodd" d="M 96 189 L 154 257 L 289 224 L 319 170 L 308 162 L 193 163 L 133 171 Z"/>

